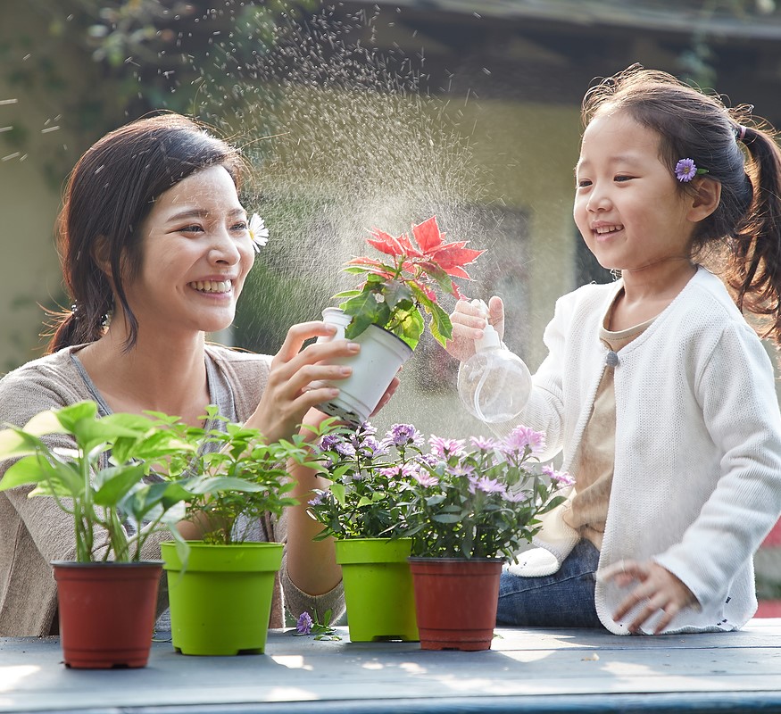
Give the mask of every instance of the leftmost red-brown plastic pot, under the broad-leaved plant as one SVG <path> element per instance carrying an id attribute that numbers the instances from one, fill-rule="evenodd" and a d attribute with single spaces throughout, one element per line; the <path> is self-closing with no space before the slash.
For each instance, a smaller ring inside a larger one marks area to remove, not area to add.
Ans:
<path id="1" fill-rule="evenodd" d="M 145 667 L 162 562 L 52 563 L 65 666 Z"/>

